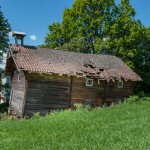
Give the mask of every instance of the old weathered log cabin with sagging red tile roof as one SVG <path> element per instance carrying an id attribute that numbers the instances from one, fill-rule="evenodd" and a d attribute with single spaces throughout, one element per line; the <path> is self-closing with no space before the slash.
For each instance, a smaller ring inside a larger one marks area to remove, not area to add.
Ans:
<path id="1" fill-rule="evenodd" d="M 133 83 L 141 81 L 115 56 L 16 44 L 10 46 L 5 74 L 12 79 L 9 107 L 20 117 L 75 103 L 110 105 L 132 95 Z"/>

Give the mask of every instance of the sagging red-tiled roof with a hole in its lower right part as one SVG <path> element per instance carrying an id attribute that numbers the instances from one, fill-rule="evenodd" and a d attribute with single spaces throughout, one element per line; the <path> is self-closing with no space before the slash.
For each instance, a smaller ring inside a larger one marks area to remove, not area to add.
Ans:
<path id="1" fill-rule="evenodd" d="M 121 59 L 111 55 L 85 54 L 11 45 L 5 73 L 10 74 L 13 66 L 29 72 L 90 77 L 103 80 L 141 81 Z"/>

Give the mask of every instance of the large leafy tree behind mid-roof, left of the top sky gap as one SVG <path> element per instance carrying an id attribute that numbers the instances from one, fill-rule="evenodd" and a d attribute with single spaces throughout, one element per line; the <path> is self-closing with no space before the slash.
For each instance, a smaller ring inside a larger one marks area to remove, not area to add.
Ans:
<path id="1" fill-rule="evenodd" d="M 50 32 L 45 37 L 45 45 L 54 48 L 52 43 L 56 43 L 57 34 L 60 33 L 59 46 L 69 43 L 72 38 L 84 37 L 95 53 L 93 39 L 98 37 L 103 39 L 106 25 L 111 24 L 115 18 L 115 9 L 114 0 L 76 0 L 71 9 L 65 9 L 62 23 L 59 28 L 55 28 L 58 32 L 50 28 L 54 24 L 49 26 Z"/>

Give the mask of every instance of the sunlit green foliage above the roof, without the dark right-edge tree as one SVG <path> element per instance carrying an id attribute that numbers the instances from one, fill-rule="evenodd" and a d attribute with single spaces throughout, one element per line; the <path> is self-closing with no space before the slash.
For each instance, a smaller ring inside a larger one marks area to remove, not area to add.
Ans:
<path id="1" fill-rule="evenodd" d="M 135 21 L 134 16 L 135 10 L 129 0 L 122 0 L 120 5 L 116 5 L 114 0 L 76 0 L 72 8 L 64 10 L 62 23 L 57 23 L 59 27 L 52 30 L 50 27 L 55 24 L 49 26 L 50 33 L 45 37 L 46 45 L 58 48 L 58 45 L 51 44 L 58 39 L 59 34 L 63 41 L 59 43 L 63 45 L 59 47 L 61 49 L 86 53 L 91 53 L 90 49 L 93 53 L 105 51 L 120 56 L 133 66 L 128 60 L 130 55 L 133 57 L 131 46 L 137 40 L 135 36 L 138 37 L 132 34 L 133 30 L 140 34 L 136 27 L 139 22 Z M 141 27 L 140 24 L 139 26 Z"/>

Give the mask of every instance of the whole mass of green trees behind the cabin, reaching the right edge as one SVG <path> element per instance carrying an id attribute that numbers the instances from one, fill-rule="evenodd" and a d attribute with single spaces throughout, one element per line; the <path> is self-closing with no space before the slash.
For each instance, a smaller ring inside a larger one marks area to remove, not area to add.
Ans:
<path id="1" fill-rule="evenodd" d="M 72 8 L 64 10 L 61 23 L 49 25 L 43 46 L 118 56 L 143 78 L 140 87 L 146 91 L 150 87 L 150 28 L 135 16 L 130 0 L 118 5 L 115 0 L 75 0 Z"/>

